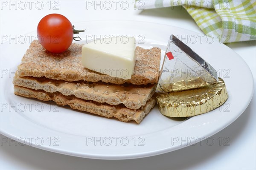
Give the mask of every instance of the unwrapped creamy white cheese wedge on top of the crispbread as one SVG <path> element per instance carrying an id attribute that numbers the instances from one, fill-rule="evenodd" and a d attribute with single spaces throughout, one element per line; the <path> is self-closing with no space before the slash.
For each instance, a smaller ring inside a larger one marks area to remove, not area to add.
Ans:
<path id="1" fill-rule="evenodd" d="M 131 79 L 134 74 L 135 48 L 133 37 L 94 40 L 82 47 L 82 65 L 111 77 Z"/>

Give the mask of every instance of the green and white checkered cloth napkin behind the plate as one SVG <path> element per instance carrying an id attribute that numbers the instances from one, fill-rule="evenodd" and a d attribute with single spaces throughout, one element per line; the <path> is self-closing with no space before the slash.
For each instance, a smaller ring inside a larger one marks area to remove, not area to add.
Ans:
<path id="1" fill-rule="evenodd" d="M 138 9 L 183 6 L 207 36 L 222 43 L 256 40 L 256 0 L 137 0 Z"/>

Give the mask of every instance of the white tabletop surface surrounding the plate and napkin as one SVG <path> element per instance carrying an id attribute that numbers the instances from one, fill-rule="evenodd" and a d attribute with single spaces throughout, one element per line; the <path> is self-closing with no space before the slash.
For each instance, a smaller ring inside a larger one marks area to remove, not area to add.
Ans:
<path id="1" fill-rule="evenodd" d="M 110 7 L 109 3 L 104 5 L 104 1 L 99 0 L 97 4 L 102 3 L 100 6 L 95 6 L 94 0 L 89 3 L 71 0 L 55 2 L 47 0 L 39 3 L 26 0 L 22 3 L 12 1 L 13 6 L 10 5 L 9 0 L 1 0 L 0 34 L 15 36 L 35 31 L 39 20 L 50 13 L 63 14 L 72 23 L 89 20 L 138 20 L 177 26 L 202 33 L 192 17 L 180 7 L 135 10 L 134 0 L 127 0 L 125 3 L 116 1 L 115 9 L 115 3 L 109 2 L 112 7 L 107 10 L 106 8 Z M 6 3 L 7 6 L 5 6 Z M 40 9 L 41 4 L 43 4 L 42 9 Z M 127 9 L 125 9 L 126 4 L 128 4 Z M 54 6 L 58 9 L 54 10 Z M 255 41 L 230 43 L 227 46 L 247 62 L 255 82 Z M 237 79 L 241 81 L 242 77 Z M 241 90 L 243 90 L 242 87 Z M 66 156 L 19 144 L 9 145 L 7 142 L 0 145 L 0 169 L 256 169 L 255 103 L 254 90 L 253 99 L 248 108 L 235 122 L 212 136 L 216 141 L 212 146 L 203 142 L 159 156 L 109 161 Z M 1 135 L 2 137 L 4 136 Z M 229 146 L 220 144 L 218 142 L 220 137 L 230 139 Z"/>

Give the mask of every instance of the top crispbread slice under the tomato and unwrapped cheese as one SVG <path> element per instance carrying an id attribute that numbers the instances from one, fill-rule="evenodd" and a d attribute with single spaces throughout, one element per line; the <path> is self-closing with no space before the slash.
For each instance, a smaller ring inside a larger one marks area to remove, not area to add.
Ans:
<path id="1" fill-rule="evenodd" d="M 128 80 L 110 77 L 84 68 L 81 65 L 81 48 L 82 45 L 73 43 L 67 51 L 61 54 L 53 54 L 46 51 L 38 40 L 34 40 L 23 56 L 17 73 L 20 77 L 47 77 L 68 82 L 84 80 L 113 84 L 128 82 L 134 85 L 157 83 L 161 57 L 160 48 L 144 49 L 137 47 L 134 74 Z"/>

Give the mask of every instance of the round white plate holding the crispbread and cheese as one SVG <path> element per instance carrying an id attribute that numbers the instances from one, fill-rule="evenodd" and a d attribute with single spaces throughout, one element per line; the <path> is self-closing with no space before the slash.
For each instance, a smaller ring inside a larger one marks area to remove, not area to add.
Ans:
<path id="1" fill-rule="evenodd" d="M 173 26 L 135 21 L 93 21 L 75 26 L 86 28 L 85 33 L 79 34 L 83 39 L 80 43 L 94 35 L 135 35 L 137 45 L 160 47 L 162 56 L 170 34 L 175 34 L 218 71 L 226 83 L 229 99 L 220 108 L 190 119 L 168 118 L 156 106 L 137 125 L 59 107 L 53 102 L 15 96 L 13 72 L 29 47 L 29 37 L 35 36 L 33 32 L 17 37 L 17 43 L 1 45 L 0 132 L 20 142 L 17 144 L 26 142 L 44 150 L 93 159 L 153 156 L 212 136 L 236 120 L 252 98 L 253 77 L 244 60 L 226 45 L 212 42 L 211 37 Z"/>

